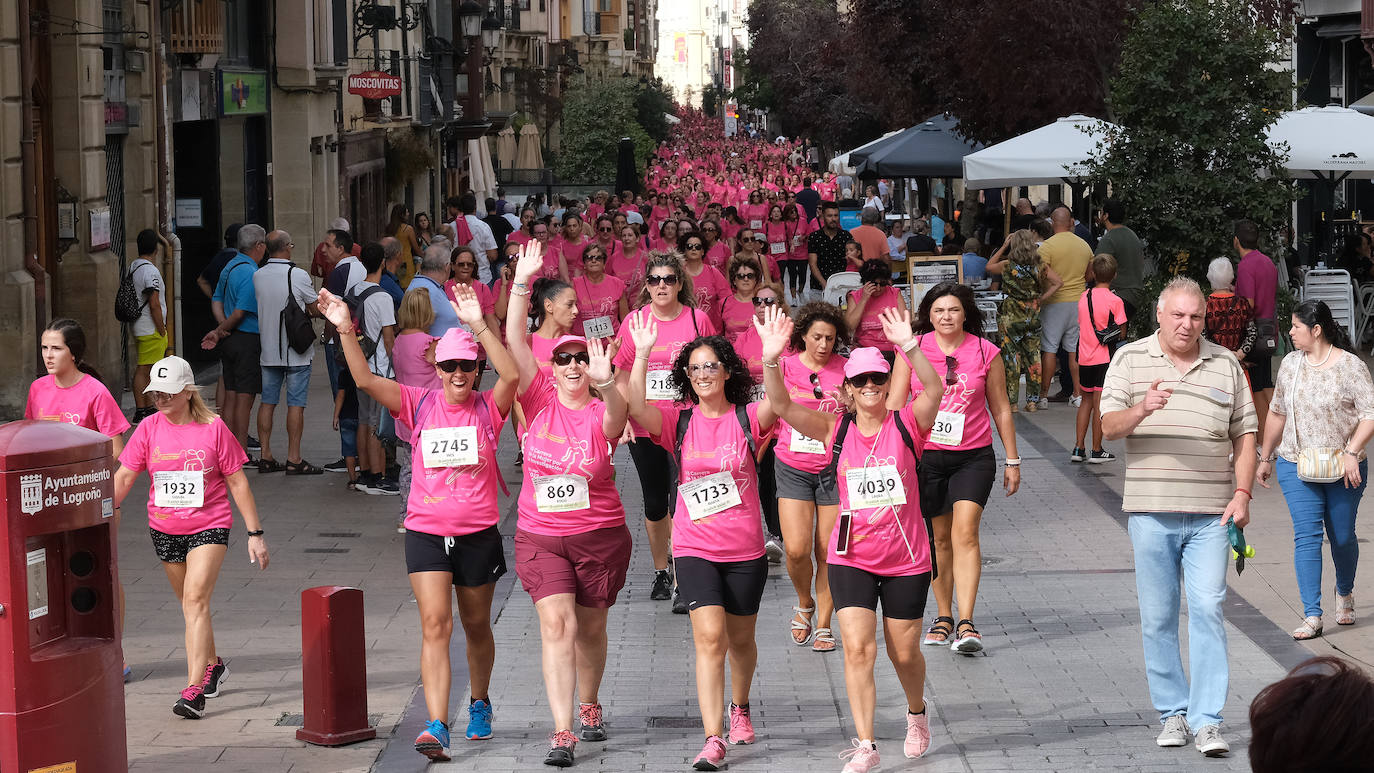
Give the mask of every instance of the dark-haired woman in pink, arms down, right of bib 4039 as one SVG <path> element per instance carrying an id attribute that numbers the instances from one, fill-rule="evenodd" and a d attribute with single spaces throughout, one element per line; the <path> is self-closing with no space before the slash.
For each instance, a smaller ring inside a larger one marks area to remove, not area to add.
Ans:
<path id="1" fill-rule="evenodd" d="M 992 422 L 1007 450 L 1002 486 L 1010 497 L 1021 485 L 1007 373 L 1000 350 L 982 338 L 982 312 L 967 284 L 943 281 L 932 287 L 921 299 L 916 319 L 921 350 L 944 373 L 940 415 L 921 461 L 921 508 L 934 526 L 936 564 L 949 568 L 932 582 L 938 616 L 923 644 L 949 644 L 954 652 L 974 654 L 984 647 L 973 625 L 982 575 L 978 524 L 998 474 Z M 958 622 L 951 615 L 956 589 Z"/>

